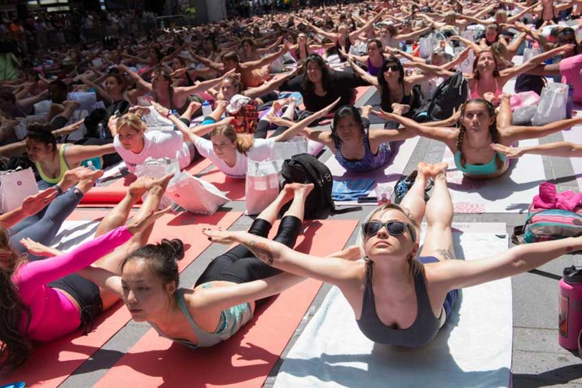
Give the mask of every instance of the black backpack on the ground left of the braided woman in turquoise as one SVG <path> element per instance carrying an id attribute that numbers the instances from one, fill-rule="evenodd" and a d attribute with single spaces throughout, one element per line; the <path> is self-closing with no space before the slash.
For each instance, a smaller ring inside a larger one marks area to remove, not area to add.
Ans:
<path id="1" fill-rule="evenodd" d="M 436 88 L 429 102 L 418 108 L 413 119 L 416 122 L 429 122 L 449 118 L 453 109 L 459 109 L 467 101 L 468 94 L 469 83 L 463 73 L 457 71 Z"/>

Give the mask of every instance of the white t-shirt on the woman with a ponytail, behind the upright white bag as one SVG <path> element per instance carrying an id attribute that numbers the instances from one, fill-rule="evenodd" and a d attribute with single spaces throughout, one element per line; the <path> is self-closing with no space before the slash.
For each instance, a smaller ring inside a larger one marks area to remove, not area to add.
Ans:
<path id="1" fill-rule="evenodd" d="M 270 148 L 275 143 L 274 139 L 255 139 L 249 152 L 244 155 L 236 150 L 236 163 L 233 167 L 225 163 L 223 159 L 214 154 L 212 142 L 204 138 L 197 138 L 194 142 L 198 152 L 203 157 L 207 157 L 214 163 L 214 166 L 225 173 L 227 177 L 244 179 L 246 177 L 246 166 L 249 157 L 253 160 L 262 161 L 270 156 Z"/>

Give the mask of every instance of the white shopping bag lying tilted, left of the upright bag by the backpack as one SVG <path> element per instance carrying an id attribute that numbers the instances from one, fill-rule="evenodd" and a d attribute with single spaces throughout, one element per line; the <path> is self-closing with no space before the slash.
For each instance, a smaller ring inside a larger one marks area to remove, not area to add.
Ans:
<path id="1" fill-rule="evenodd" d="M 181 172 L 178 179 L 170 181 L 166 196 L 184 209 L 197 214 L 214 214 L 218 207 L 230 201 L 215 185 L 192 177 L 188 172 Z"/>

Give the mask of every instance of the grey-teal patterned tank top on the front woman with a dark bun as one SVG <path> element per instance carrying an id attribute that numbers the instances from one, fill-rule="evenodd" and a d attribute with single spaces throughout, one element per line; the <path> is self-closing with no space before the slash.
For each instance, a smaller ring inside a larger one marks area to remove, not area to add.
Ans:
<path id="1" fill-rule="evenodd" d="M 208 288 L 211 287 L 211 285 L 205 284 L 202 287 Z M 249 322 L 251 319 L 253 319 L 253 310 L 251 309 L 250 303 L 242 303 L 241 305 L 229 307 L 228 309 L 224 309 L 220 314 L 220 322 L 218 322 L 216 331 L 214 331 L 214 333 L 208 333 L 203 328 L 198 326 L 196 322 L 194 322 L 194 318 L 192 318 L 192 314 L 190 314 L 188 306 L 186 306 L 186 300 L 184 300 L 184 289 L 177 289 L 175 296 L 180 311 L 186 315 L 186 319 L 188 322 L 190 322 L 192 330 L 194 330 L 194 333 L 196 333 L 198 344 L 194 344 L 192 341 L 188 341 L 188 339 L 169 337 L 168 335 L 165 335 L 153 322 L 149 322 L 149 324 L 155 328 L 155 331 L 157 331 L 161 337 L 179 342 L 179 344 L 188 346 L 190 349 L 207 348 L 209 346 L 216 345 L 225 339 L 229 339 L 234 335 L 234 333 L 238 331 L 238 329 L 246 324 L 246 322 Z"/>

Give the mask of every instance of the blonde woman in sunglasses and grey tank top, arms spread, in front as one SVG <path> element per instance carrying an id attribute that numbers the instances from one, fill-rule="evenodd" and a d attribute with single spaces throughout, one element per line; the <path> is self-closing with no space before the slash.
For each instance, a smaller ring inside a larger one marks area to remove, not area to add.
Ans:
<path id="1" fill-rule="evenodd" d="M 513 276 L 582 248 L 582 237 L 520 245 L 477 260 L 456 260 L 453 204 L 446 187 L 446 164 L 421 162 L 401 206 L 378 207 L 360 232 L 364 261 L 313 257 L 283 244 L 241 231 L 204 231 L 213 242 L 242 244 L 279 270 L 336 285 L 366 337 L 380 344 L 418 347 L 431 342 L 444 325 L 458 289 Z M 434 179 L 425 205 L 425 185 Z M 427 216 L 419 250 L 418 223 Z"/>

